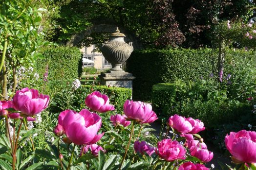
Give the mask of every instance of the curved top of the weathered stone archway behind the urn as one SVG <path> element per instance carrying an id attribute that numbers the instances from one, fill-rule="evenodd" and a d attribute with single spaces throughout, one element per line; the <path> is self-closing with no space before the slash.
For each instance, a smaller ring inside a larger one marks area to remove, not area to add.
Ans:
<path id="1" fill-rule="evenodd" d="M 66 43 L 66 46 L 77 46 L 78 43 L 85 38 L 85 36 L 92 33 L 114 33 L 116 31 L 117 25 L 115 24 L 94 24 L 91 27 L 88 27 L 86 30 L 72 35 L 70 40 Z M 142 49 L 142 43 L 134 35 L 129 34 L 128 31 L 122 27 L 119 27 L 121 33 L 126 35 L 125 41 L 132 42 L 133 49 Z"/>

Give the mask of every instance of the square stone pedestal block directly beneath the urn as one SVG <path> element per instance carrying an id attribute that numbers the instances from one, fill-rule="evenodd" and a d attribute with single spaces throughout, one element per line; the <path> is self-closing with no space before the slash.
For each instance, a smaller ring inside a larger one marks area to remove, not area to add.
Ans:
<path id="1" fill-rule="evenodd" d="M 101 85 L 125 87 L 130 89 L 132 89 L 132 80 L 135 79 L 131 73 L 123 70 L 102 72 L 98 77 L 101 79 Z"/>

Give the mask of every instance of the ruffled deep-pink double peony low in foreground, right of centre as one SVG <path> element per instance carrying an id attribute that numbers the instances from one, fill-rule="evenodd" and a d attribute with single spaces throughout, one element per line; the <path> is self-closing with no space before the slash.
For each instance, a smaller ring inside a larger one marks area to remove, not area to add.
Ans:
<path id="1" fill-rule="evenodd" d="M 176 159 L 185 159 L 186 150 L 176 140 L 164 139 L 157 143 L 155 153 L 162 159 L 171 162 Z"/>

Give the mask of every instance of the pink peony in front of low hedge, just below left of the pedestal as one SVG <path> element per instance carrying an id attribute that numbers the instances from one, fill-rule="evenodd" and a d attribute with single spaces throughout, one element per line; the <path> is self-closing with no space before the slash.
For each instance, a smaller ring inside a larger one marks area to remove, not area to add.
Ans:
<path id="1" fill-rule="evenodd" d="M 109 104 L 107 95 L 101 94 L 99 91 L 94 91 L 85 98 L 85 104 L 91 110 L 104 113 L 110 110 L 115 110 L 114 106 Z"/>

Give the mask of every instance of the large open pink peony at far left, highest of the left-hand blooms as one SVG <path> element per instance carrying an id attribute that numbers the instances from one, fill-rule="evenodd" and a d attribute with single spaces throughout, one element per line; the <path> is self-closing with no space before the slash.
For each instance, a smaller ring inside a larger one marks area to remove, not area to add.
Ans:
<path id="1" fill-rule="evenodd" d="M 13 108 L 21 111 L 21 116 L 34 116 L 42 112 L 49 104 L 49 96 L 39 94 L 36 89 L 23 88 L 13 97 Z"/>

